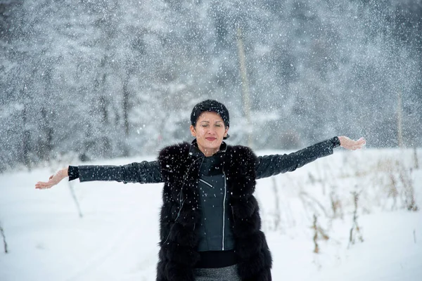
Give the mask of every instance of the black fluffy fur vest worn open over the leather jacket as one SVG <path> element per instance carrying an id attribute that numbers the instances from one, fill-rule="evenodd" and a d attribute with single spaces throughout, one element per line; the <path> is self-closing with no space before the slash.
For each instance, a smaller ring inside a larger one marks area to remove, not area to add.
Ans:
<path id="1" fill-rule="evenodd" d="M 160 254 L 157 281 L 194 281 L 193 268 L 200 222 L 198 172 L 200 158 L 189 154 L 191 144 L 172 145 L 160 151 L 158 162 L 165 185 L 160 212 Z M 233 212 L 238 275 L 243 281 L 271 280 L 271 254 L 264 233 L 255 191 L 256 156 L 249 148 L 228 146 L 224 171 Z"/>

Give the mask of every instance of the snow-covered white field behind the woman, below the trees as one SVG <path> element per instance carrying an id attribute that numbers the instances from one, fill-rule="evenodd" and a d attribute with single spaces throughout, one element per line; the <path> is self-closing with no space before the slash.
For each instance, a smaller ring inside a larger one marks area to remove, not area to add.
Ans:
<path id="1" fill-rule="evenodd" d="M 153 157 L 89 164 L 144 159 Z M 155 280 L 162 185 L 63 181 L 35 190 L 61 166 L 0 174 L 8 247 L 5 254 L 0 236 L 0 280 Z M 337 148 L 297 171 L 258 180 L 273 280 L 422 280 L 421 166 L 421 149 Z M 354 242 L 352 192 L 359 194 Z"/>

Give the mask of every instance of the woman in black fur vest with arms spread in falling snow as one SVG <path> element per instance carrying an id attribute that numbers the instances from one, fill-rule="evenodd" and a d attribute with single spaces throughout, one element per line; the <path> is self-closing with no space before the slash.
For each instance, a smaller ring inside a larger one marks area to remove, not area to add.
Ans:
<path id="1" fill-rule="evenodd" d="M 191 113 L 192 143 L 164 148 L 153 162 L 124 166 L 69 166 L 38 182 L 51 188 L 72 181 L 164 183 L 160 211 L 158 281 L 271 280 L 271 254 L 260 230 L 255 180 L 294 171 L 333 148 L 355 150 L 364 138 L 334 137 L 289 155 L 257 157 L 229 138 L 229 111 L 205 100 Z"/>

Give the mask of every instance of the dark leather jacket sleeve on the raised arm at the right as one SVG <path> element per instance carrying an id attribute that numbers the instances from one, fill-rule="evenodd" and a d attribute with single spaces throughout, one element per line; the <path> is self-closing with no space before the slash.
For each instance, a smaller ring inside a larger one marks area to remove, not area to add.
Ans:
<path id="1" fill-rule="evenodd" d="M 334 137 L 288 155 L 259 156 L 255 166 L 256 178 L 267 178 L 288 171 L 295 171 L 295 169 L 318 158 L 332 155 L 333 148 L 336 148 L 339 145 L 340 141 L 338 140 L 338 137 Z"/>

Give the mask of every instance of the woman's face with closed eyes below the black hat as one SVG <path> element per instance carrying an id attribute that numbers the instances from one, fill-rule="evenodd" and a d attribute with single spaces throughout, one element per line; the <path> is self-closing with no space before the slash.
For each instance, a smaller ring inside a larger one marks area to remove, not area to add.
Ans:
<path id="1" fill-rule="evenodd" d="M 192 136 L 196 137 L 198 148 L 205 156 L 211 156 L 219 150 L 229 128 L 224 126 L 222 117 L 216 112 L 205 111 L 199 115 L 196 126 L 191 125 Z"/>

